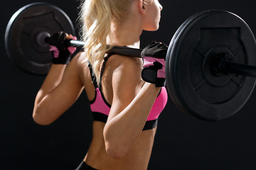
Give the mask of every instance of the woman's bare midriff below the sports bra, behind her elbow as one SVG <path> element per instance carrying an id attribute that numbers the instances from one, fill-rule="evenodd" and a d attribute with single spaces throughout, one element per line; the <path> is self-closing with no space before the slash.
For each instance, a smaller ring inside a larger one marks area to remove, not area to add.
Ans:
<path id="1" fill-rule="evenodd" d="M 146 170 L 151 156 L 156 128 L 142 131 L 137 142 L 121 159 L 110 157 L 105 149 L 103 129 L 105 123 L 95 121 L 93 123 L 92 142 L 84 161 L 95 169 L 133 169 Z"/>

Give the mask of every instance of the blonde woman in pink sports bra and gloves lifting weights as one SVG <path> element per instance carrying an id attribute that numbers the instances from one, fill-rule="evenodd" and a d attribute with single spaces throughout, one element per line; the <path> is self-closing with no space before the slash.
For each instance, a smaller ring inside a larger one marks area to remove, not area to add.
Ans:
<path id="1" fill-rule="evenodd" d="M 86 0 L 80 13 L 84 51 L 70 62 L 74 49 L 63 46 L 63 40 L 73 36 L 50 38 L 53 65 L 36 96 L 33 119 L 52 123 L 86 91 L 95 121 L 78 169 L 147 169 L 167 100 L 161 87 L 166 46 L 152 43 L 143 50 L 143 60 L 106 51 L 107 44 L 139 48 L 142 30 L 159 28 L 161 10 L 157 0 Z M 157 77 L 147 77 L 148 71 Z"/>

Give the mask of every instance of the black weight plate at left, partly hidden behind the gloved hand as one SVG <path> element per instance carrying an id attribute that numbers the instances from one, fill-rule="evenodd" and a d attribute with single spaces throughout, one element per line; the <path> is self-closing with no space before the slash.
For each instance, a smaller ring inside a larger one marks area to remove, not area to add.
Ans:
<path id="1" fill-rule="evenodd" d="M 73 23 L 60 8 L 46 3 L 23 6 L 6 27 L 6 52 L 23 71 L 47 74 L 52 61 L 44 38 L 58 31 L 75 35 Z"/>

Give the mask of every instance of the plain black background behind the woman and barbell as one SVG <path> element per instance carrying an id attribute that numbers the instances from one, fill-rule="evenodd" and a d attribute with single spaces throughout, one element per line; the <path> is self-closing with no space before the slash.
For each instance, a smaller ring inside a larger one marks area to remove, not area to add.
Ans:
<path id="1" fill-rule="evenodd" d="M 43 76 L 21 72 L 6 55 L 4 31 L 11 16 L 37 1 L 2 1 L 0 62 L 0 169 L 75 169 L 90 145 L 92 116 L 85 94 L 55 123 L 36 125 L 33 101 Z M 79 1 L 48 0 L 65 11 L 75 24 Z M 151 40 L 169 44 L 178 26 L 206 9 L 225 9 L 242 17 L 256 31 L 254 1 L 161 0 L 161 27 L 143 33 L 142 47 Z M 3 4 L 4 3 L 4 4 Z M 233 117 L 208 123 L 188 116 L 169 102 L 159 128 L 149 169 L 256 169 L 255 92 Z"/>

